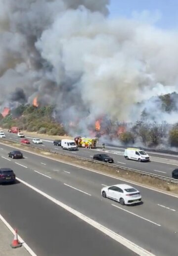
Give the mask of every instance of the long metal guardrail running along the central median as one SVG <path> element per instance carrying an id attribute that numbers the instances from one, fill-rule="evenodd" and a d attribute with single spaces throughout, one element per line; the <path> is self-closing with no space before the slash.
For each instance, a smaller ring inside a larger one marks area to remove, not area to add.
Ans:
<path id="1" fill-rule="evenodd" d="M 120 165 L 117 165 L 117 164 L 109 164 L 109 163 L 105 163 L 105 162 L 100 162 L 100 161 L 93 160 L 93 159 L 90 159 L 90 158 L 87 158 L 87 157 L 71 155 L 71 154 L 68 154 L 66 152 L 50 150 L 50 149 L 46 149 L 46 148 L 43 148 L 43 147 L 32 146 L 32 145 L 29 145 L 29 144 L 24 145 L 22 143 L 19 143 L 19 142 L 10 140 L 10 139 L 6 139 L 6 138 L 3 139 L 3 140 L 9 141 L 11 143 L 21 144 L 21 145 L 26 146 L 26 147 L 35 148 L 35 149 L 38 149 L 38 150 L 43 150 L 43 151 L 46 151 L 46 152 L 54 153 L 54 154 L 70 156 L 70 157 L 85 160 L 85 161 L 88 161 L 88 162 L 91 162 L 91 163 L 97 163 L 97 164 L 100 164 L 100 165 L 113 167 L 115 169 L 123 169 L 123 170 L 126 170 L 126 171 L 132 171 L 132 172 L 135 172 L 135 173 L 138 173 L 138 174 L 141 174 L 141 175 L 157 178 L 159 180 L 166 181 L 166 182 L 169 182 L 169 183 L 178 184 L 178 180 L 175 180 L 175 179 L 172 179 L 172 178 L 169 178 L 169 177 L 165 177 L 165 176 L 161 176 L 161 175 L 158 175 L 158 174 L 152 174 L 152 173 L 148 173 L 148 172 L 145 172 L 145 171 L 141 171 L 141 170 L 137 170 L 137 169 L 133 169 L 133 168 L 129 168 L 129 167 L 123 167 L 123 166 L 120 166 Z"/>

